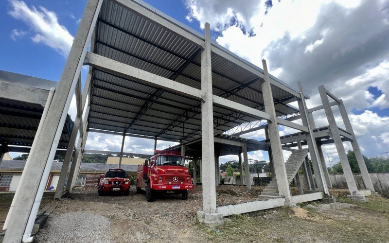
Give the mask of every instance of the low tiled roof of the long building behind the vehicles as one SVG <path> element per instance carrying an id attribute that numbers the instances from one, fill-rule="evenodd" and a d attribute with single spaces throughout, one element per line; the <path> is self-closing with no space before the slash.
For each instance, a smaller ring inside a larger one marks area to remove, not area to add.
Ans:
<path id="1" fill-rule="evenodd" d="M 1 170 L 18 171 L 23 170 L 26 164 L 25 160 L 3 160 L 0 164 Z M 69 166 L 70 167 L 70 166 Z M 137 165 L 122 165 L 122 169 L 127 172 L 136 172 Z M 62 162 L 53 162 L 52 171 L 60 171 Z M 108 169 L 116 169 L 116 164 L 99 164 L 99 163 L 81 163 L 80 171 L 106 172 Z"/>

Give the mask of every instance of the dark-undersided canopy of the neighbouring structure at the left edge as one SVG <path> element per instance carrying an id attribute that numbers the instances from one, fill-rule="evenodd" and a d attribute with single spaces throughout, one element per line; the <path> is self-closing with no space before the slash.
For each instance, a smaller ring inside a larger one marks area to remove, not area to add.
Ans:
<path id="1" fill-rule="evenodd" d="M 31 97 L 25 97 L 22 100 L 20 97 L 9 99 L 12 94 L 3 98 L 0 94 L 0 144 L 1 145 L 17 145 L 31 147 L 34 141 L 35 133 L 39 125 L 40 118 L 44 109 L 43 104 L 46 103 L 49 95 L 50 87 L 56 87 L 57 83 L 21 75 L 17 73 L 0 70 L 0 85 L 13 90 L 13 86 L 18 87 L 19 93 L 25 93 L 26 96 L 34 96 L 39 94 L 35 103 L 31 103 Z M 2 90 L 7 91 L 7 90 Z M 40 101 L 40 102 L 38 102 Z M 70 116 L 67 116 L 62 135 L 58 144 L 58 148 L 66 149 L 70 139 L 73 121 Z M 9 146 L 9 150 L 13 152 L 28 152 L 25 148 L 17 148 Z"/>

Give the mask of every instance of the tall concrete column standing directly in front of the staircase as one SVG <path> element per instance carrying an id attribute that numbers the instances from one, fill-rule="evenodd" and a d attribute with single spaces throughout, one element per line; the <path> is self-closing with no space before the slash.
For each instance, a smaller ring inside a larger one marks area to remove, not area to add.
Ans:
<path id="1" fill-rule="evenodd" d="M 262 60 L 265 80 L 262 83 L 262 93 L 264 96 L 265 111 L 270 115 L 271 121 L 268 121 L 269 139 L 271 146 L 271 155 L 273 157 L 274 175 L 277 178 L 278 191 L 286 201 L 290 201 L 289 183 L 286 175 L 285 162 L 283 160 L 283 151 L 278 131 L 276 110 L 274 108 L 273 94 L 270 87 L 269 74 L 267 72 L 266 61 Z"/>

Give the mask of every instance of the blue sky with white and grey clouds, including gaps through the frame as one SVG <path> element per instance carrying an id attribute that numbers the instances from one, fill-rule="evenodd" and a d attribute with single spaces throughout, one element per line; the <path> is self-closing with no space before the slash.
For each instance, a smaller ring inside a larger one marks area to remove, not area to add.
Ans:
<path id="1" fill-rule="evenodd" d="M 343 99 L 362 152 L 367 156 L 389 152 L 389 1 L 146 2 L 199 32 L 209 22 L 212 39 L 259 67 L 265 58 L 270 73 L 292 87 L 302 83 L 311 97 L 308 107 L 320 104 L 317 87 L 324 84 Z M 58 81 L 85 4 L 86 0 L 0 1 L 0 69 Z M 337 108 L 334 112 L 338 114 Z M 70 114 L 74 119 L 75 101 Z M 314 116 L 317 126 L 328 124 L 323 112 Z M 339 116 L 337 121 L 343 126 Z M 281 134 L 291 132 L 281 127 Z M 265 135 L 254 132 L 245 137 Z M 169 144 L 159 141 L 158 148 Z M 88 136 L 88 149 L 119 151 L 120 145 L 121 137 Z M 124 150 L 149 154 L 152 147 L 152 140 L 127 137 Z M 351 144 L 345 147 L 348 150 Z M 338 161 L 335 146 L 323 150 Z M 268 160 L 261 151 L 249 157 Z M 229 159 L 237 157 L 225 156 L 222 161 Z"/>

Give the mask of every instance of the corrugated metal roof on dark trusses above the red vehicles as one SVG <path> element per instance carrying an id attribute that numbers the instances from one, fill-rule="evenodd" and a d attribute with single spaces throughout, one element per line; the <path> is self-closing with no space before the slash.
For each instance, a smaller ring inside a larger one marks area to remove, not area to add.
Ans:
<path id="1" fill-rule="evenodd" d="M 146 3 L 134 2 L 150 13 L 147 16 L 162 16 L 199 40 L 204 39 L 203 35 L 164 16 Z M 104 1 L 91 51 L 201 89 L 201 48 L 135 10 Z M 212 52 L 213 94 L 264 110 L 263 79 L 258 75 L 263 74 L 263 70 L 215 43 L 212 43 L 212 48 L 220 51 L 220 55 Z M 243 63 L 255 73 L 236 62 Z M 271 79 L 277 116 L 299 113 L 297 108 L 288 105 L 297 100 L 298 93 L 275 77 L 271 76 Z M 91 90 L 90 128 L 176 140 L 201 136 L 201 101 L 195 98 L 101 69 L 93 69 Z M 213 105 L 215 133 L 256 120 L 258 118 L 241 111 Z"/>

